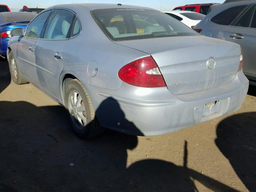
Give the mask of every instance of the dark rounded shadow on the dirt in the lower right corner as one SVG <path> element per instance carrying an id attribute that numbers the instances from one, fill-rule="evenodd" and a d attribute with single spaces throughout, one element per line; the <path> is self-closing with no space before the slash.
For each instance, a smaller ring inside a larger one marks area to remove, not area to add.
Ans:
<path id="1" fill-rule="evenodd" d="M 256 112 L 230 116 L 218 124 L 215 142 L 249 191 L 256 190 Z"/>

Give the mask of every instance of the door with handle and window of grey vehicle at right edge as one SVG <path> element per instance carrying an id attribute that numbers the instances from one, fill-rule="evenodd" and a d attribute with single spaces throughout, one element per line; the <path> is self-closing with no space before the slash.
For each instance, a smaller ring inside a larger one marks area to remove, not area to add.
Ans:
<path id="1" fill-rule="evenodd" d="M 234 20 L 230 26 L 225 27 L 224 40 L 240 44 L 243 50 L 243 71 L 247 75 L 256 76 L 256 26 L 255 5 L 250 5 Z M 254 17 L 253 17 L 254 15 Z"/>

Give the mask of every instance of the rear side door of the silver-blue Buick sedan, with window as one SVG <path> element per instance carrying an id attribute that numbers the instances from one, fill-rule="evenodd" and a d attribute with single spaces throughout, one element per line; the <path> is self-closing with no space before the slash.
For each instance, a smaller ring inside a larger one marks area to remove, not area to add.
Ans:
<path id="1" fill-rule="evenodd" d="M 74 18 L 74 13 L 68 10 L 54 10 L 43 38 L 37 43 L 36 73 L 40 86 L 57 99 L 60 99 L 59 77 Z"/>

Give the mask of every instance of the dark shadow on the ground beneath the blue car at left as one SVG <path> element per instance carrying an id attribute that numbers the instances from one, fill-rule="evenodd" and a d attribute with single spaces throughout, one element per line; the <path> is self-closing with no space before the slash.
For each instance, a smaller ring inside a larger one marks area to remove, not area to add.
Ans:
<path id="1" fill-rule="evenodd" d="M 7 60 L 0 57 L 0 94 L 11 83 L 11 75 Z"/>

